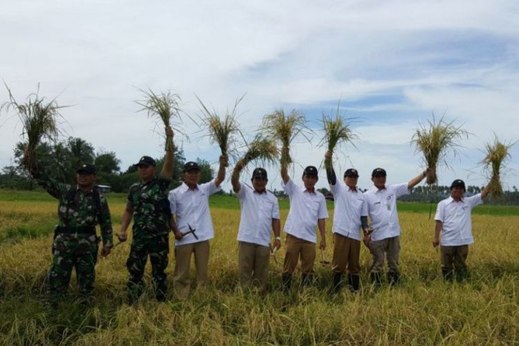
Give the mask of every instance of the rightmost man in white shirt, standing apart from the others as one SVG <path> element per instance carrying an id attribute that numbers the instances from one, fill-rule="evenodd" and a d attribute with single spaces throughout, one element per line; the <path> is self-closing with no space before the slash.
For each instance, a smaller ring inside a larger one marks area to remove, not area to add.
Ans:
<path id="1" fill-rule="evenodd" d="M 438 203 L 435 220 L 435 238 L 432 246 L 437 247 L 441 233 L 441 273 L 445 280 L 466 276 L 468 244 L 473 244 L 471 211 L 489 194 L 488 186 L 481 193 L 464 197 L 465 183 L 456 179 L 450 185 L 450 197 Z"/>

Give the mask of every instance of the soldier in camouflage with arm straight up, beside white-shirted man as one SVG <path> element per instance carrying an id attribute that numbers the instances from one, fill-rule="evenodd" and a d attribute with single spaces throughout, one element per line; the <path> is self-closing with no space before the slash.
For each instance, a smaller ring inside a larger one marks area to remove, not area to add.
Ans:
<path id="1" fill-rule="evenodd" d="M 166 136 L 173 136 L 170 127 L 166 128 Z M 155 297 L 158 301 L 164 301 L 171 219 L 167 191 L 173 176 L 173 152 L 166 151 L 161 178 L 155 176 L 156 163 L 149 156 L 141 157 L 136 166 L 140 182 L 131 185 L 119 234 L 122 241 L 127 239 L 127 228 L 133 217 L 133 240 L 126 262 L 130 274 L 127 284 L 129 300 L 134 302 L 143 293 L 143 275 L 149 255 Z"/>

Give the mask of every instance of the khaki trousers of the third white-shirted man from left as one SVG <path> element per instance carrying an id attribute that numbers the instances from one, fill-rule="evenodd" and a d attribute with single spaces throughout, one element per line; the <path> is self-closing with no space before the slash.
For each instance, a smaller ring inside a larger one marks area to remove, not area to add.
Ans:
<path id="1" fill-rule="evenodd" d="M 301 257 L 301 273 L 313 274 L 313 262 L 316 260 L 316 244 L 307 240 L 286 235 L 286 254 L 283 273 L 293 274 Z"/>

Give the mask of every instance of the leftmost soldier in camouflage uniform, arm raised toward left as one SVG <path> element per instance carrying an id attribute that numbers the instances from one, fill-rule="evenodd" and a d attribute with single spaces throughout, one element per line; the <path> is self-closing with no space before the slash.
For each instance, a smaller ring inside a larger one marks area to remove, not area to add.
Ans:
<path id="1" fill-rule="evenodd" d="M 77 170 L 77 185 L 58 183 L 49 178 L 37 164 L 30 174 L 52 197 L 60 201 L 59 222 L 54 232 L 53 264 L 48 272 L 48 294 L 56 303 L 66 293 L 72 268 L 78 279 L 80 293 L 88 296 L 93 290 L 95 262 L 98 257 L 98 237 L 95 225 L 100 224 L 102 256 L 109 255 L 113 246 L 110 210 L 107 200 L 93 185 L 95 167 L 84 164 Z"/>

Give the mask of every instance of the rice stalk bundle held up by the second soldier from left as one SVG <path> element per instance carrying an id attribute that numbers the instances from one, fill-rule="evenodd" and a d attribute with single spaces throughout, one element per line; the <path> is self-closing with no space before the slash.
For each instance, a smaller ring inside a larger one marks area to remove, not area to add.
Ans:
<path id="1" fill-rule="evenodd" d="M 160 95 L 154 93 L 151 89 L 140 91 L 144 94 L 145 100 L 137 100 L 136 104 L 143 108 L 139 111 L 147 111 L 149 118 L 158 117 L 162 120 L 164 127 L 172 127 L 175 131 L 179 129 L 174 126 L 174 119 L 180 119 L 180 96 L 171 91 L 163 92 Z M 174 151 L 173 138 L 166 138 L 165 149 L 167 152 Z"/>

